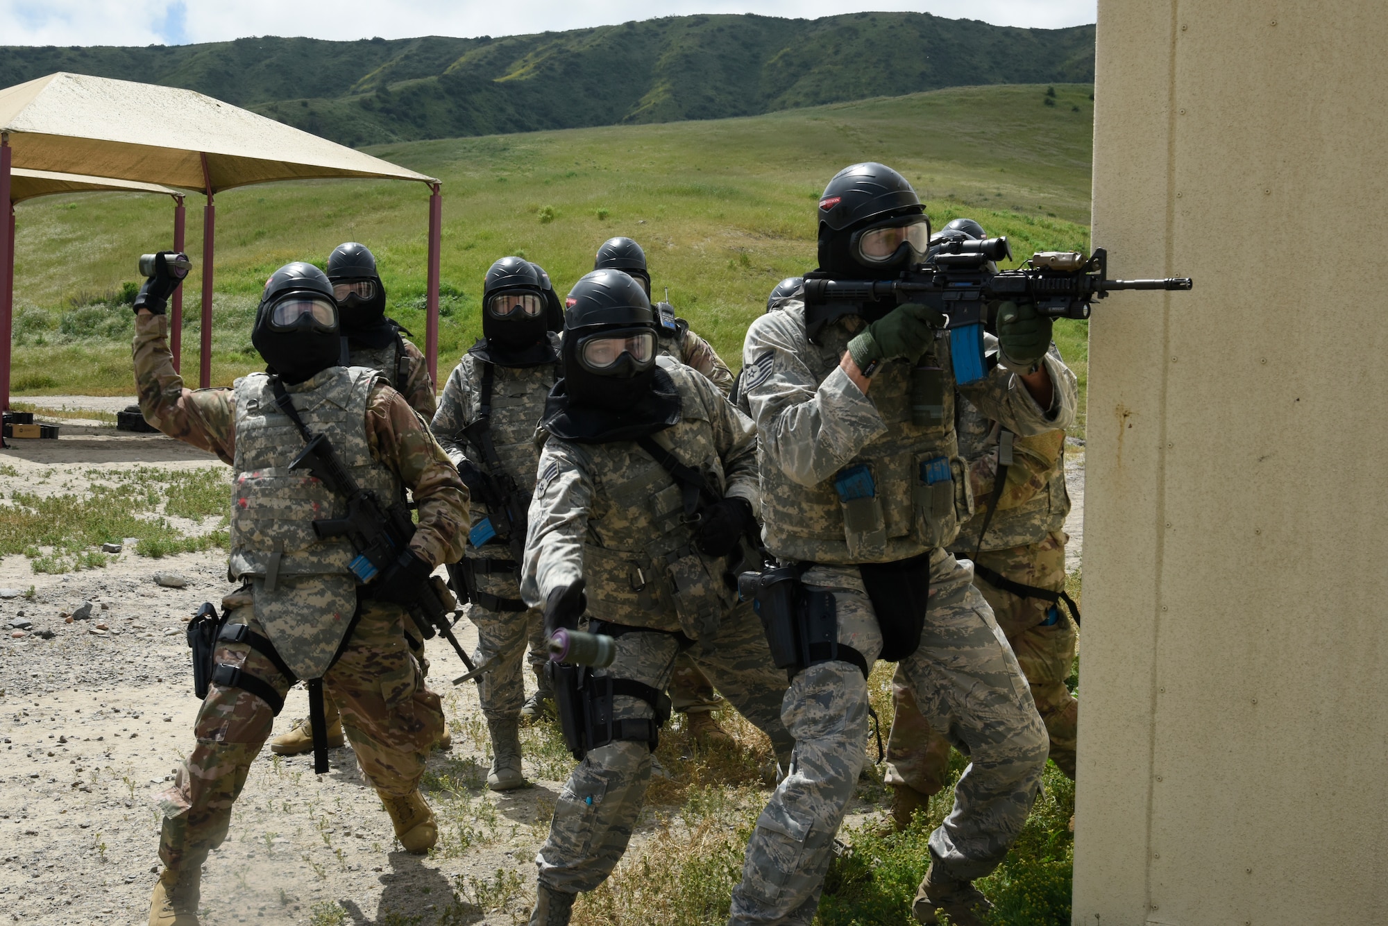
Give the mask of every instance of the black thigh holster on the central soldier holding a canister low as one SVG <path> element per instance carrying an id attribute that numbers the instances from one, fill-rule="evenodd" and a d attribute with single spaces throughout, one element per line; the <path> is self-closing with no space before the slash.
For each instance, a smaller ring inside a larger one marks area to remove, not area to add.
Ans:
<path id="1" fill-rule="evenodd" d="M 559 729 L 573 758 L 583 761 L 591 750 L 616 742 L 645 743 L 655 751 L 659 731 L 670 719 L 670 699 L 665 692 L 626 678 L 598 678 L 584 665 L 548 663 L 545 671 L 554 685 Z M 613 719 L 613 699 L 618 696 L 645 701 L 655 711 L 655 718 Z"/>

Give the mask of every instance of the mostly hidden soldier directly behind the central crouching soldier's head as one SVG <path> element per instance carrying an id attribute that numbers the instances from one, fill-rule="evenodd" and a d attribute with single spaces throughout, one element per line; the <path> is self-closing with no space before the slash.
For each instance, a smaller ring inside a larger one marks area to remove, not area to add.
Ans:
<path id="1" fill-rule="evenodd" d="M 593 259 L 594 270 L 622 270 L 645 290 L 651 298 L 651 272 L 645 265 L 645 251 L 632 238 L 608 238 Z M 672 356 L 684 366 L 702 373 L 725 396 L 733 388 L 733 372 L 723 363 L 713 345 L 690 329 L 684 319 L 675 317 L 675 306 L 669 302 L 654 302 L 658 351 Z M 705 746 L 730 746 L 733 737 L 718 725 L 712 711 L 722 707 L 723 699 L 713 690 L 712 682 L 694 665 L 693 660 L 680 653 L 670 675 L 670 700 L 676 714 L 688 718 L 688 732 Z"/>

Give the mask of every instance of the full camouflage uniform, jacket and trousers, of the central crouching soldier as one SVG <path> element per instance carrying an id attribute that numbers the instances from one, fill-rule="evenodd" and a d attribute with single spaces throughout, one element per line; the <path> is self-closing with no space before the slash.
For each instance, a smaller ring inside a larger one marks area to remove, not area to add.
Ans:
<path id="1" fill-rule="evenodd" d="M 686 466 L 698 469 L 726 496 L 756 503 L 755 437 L 713 385 L 670 358 L 657 360 L 680 396 L 680 421 L 655 437 Z M 673 503 L 670 499 L 675 499 Z M 784 754 L 791 740 L 779 714 L 786 675 L 748 604 L 722 582 L 723 560 L 691 550 L 680 492 L 670 475 L 634 441 L 579 445 L 550 437 L 530 505 L 522 593 L 539 604 L 550 591 L 583 577 L 590 614 L 650 628 L 616 638 L 607 670 L 657 689 L 670 681 L 679 638 L 719 690 Z M 691 568 L 693 567 L 693 568 Z M 669 573 L 677 575 L 679 592 Z M 718 620 L 698 625 L 691 596 L 719 604 Z M 616 717 L 652 717 L 641 700 L 616 699 Z M 566 893 L 593 890 L 626 850 L 650 780 L 645 743 L 595 749 L 573 771 L 540 850 L 540 883 Z"/>

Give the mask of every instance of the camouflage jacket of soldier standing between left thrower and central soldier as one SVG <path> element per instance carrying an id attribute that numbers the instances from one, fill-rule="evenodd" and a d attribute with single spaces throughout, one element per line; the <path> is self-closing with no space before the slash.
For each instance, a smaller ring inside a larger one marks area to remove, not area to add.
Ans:
<path id="1" fill-rule="evenodd" d="M 551 334 L 550 341 L 558 348 L 559 335 Z M 479 470 L 490 471 L 487 462 L 480 459 L 482 455 L 462 435 L 462 430 L 477 420 L 482 384 L 489 366 L 491 367 L 491 442 L 505 475 L 515 480 L 516 487 L 525 492 L 527 503 L 530 493 L 534 492 L 534 477 L 540 462 L 534 430 L 544 414 L 544 401 L 558 378 L 555 363 L 526 367 L 498 366 L 483 360 L 472 351 L 464 353 L 443 385 L 439 410 L 434 412 L 430 427 L 455 466 L 468 460 Z M 501 474 L 491 473 L 491 475 Z M 472 524 L 480 523 L 484 517 L 489 517 L 486 506 L 480 499 L 473 499 Z M 505 543 L 491 542 L 480 549 L 469 549 L 468 556 L 511 559 L 511 552 Z"/>

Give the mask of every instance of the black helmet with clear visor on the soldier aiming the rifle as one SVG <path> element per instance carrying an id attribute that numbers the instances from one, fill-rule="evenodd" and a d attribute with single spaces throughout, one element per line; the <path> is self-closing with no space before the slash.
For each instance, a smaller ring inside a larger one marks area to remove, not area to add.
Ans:
<path id="1" fill-rule="evenodd" d="M 819 269 L 888 279 L 919 262 L 930 219 L 906 177 L 884 164 L 844 168 L 819 197 Z"/>

